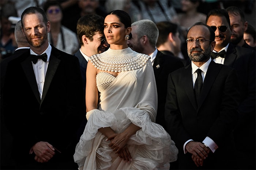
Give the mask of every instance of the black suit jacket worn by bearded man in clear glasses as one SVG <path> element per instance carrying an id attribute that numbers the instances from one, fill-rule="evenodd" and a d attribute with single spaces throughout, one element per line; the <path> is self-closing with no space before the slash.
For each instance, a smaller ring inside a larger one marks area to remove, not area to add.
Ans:
<path id="1" fill-rule="evenodd" d="M 167 129 L 179 150 L 180 169 L 197 169 L 191 154 L 184 154 L 184 143 L 189 139 L 203 142 L 207 136 L 219 148 L 208 155 L 201 168 L 232 168 L 235 162 L 232 130 L 238 118 L 239 97 L 236 71 L 223 64 L 211 61 L 198 106 L 193 91 L 191 64 L 169 75 L 165 119 Z"/>

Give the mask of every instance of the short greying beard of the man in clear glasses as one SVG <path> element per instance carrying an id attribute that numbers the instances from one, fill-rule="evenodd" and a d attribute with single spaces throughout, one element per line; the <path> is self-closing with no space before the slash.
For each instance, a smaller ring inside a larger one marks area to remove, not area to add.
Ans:
<path id="1" fill-rule="evenodd" d="M 199 53 L 192 54 L 193 51 L 199 51 Z M 211 55 L 210 47 L 207 48 L 205 51 L 203 51 L 202 48 L 193 48 L 188 51 L 188 57 L 193 62 L 202 62 L 202 61 L 206 60 L 207 58 L 209 58 L 210 55 Z"/>

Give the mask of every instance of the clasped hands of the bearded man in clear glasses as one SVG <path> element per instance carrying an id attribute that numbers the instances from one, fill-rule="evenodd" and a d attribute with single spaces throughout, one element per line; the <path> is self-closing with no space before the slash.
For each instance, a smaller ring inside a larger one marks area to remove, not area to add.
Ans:
<path id="1" fill-rule="evenodd" d="M 210 152 L 210 149 L 203 143 L 194 141 L 188 142 L 185 149 L 192 154 L 192 159 L 197 167 L 199 165 L 203 166 L 203 160 L 208 157 L 208 153 Z"/>

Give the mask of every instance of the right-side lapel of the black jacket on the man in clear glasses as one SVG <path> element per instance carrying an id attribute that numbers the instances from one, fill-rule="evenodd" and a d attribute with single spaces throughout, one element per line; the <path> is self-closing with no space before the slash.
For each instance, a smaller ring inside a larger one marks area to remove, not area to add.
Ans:
<path id="1" fill-rule="evenodd" d="M 217 78 L 220 70 L 221 70 L 221 65 L 216 64 L 214 61 L 211 61 L 207 69 L 206 77 L 204 78 L 197 111 L 202 106 L 203 101 L 206 99 L 206 96 L 208 95 L 208 92 L 211 90 L 212 84 Z"/>

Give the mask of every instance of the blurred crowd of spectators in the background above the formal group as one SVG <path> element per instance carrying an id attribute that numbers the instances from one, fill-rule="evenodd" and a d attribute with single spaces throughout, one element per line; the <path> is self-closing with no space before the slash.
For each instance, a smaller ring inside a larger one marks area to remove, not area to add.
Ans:
<path id="1" fill-rule="evenodd" d="M 54 5 L 59 5 L 58 8 Z M 76 24 L 86 14 L 98 14 L 103 17 L 110 11 L 121 9 L 129 13 L 132 22 L 149 19 L 155 23 L 171 21 L 178 25 L 181 39 L 177 56 L 187 59 L 185 37 L 188 28 L 197 21 L 205 23 L 207 12 L 211 9 L 226 9 L 236 6 L 245 14 L 255 10 L 254 0 L 1 0 L 1 59 L 13 54 L 17 48 L 14 27 L 21 13 L 30 6 L 38 6 L 47 13 L 51 23 L 49 42 L 54 47 L 74 54 L 79 49 L 76 36 Z M 255 19 L 254 19 L 255 20 Z M 254 23 L 249 27 L 255 30 Z M 255 32 L 255 31 L 253 31 Z M 247 35 L 247 34 L 246 34 Z M 254 35 L 255 36 L 255 35 Z M 254 37 L 255 41 L 255 37 Z"/>

